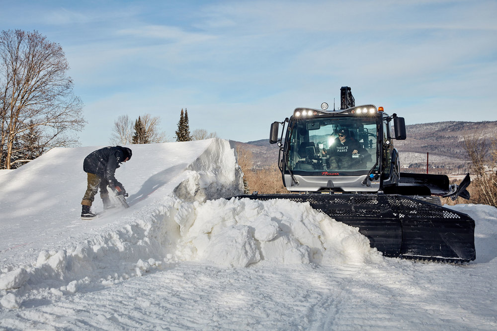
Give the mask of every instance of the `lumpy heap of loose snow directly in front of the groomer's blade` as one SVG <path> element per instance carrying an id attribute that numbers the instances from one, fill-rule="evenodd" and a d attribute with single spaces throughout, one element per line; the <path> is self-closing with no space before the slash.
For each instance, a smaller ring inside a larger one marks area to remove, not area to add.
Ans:
<path id="1" fill-rule="evenodd" d="M 177 260 L 245 267 L 276 264 L 355 264 L 380 259 L 357 228 L 336 222 L 309 203 L 211 200 L 183 204 L 166 223 Z"/>

